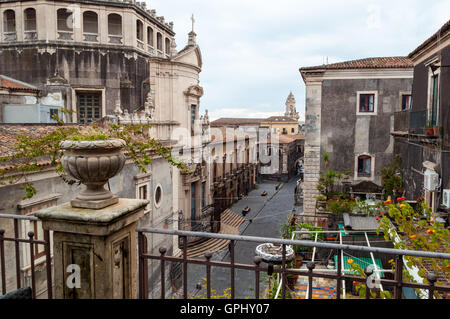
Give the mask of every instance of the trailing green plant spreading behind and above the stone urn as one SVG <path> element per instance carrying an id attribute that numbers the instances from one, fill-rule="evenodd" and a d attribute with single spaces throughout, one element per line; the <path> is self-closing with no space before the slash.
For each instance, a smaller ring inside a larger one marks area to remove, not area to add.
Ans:
<path id="1" fill-rule="evenodd" d="M 63 110 L 63 113 L 65 112 L 70 111 Z M 58 116 L 54 116 L 53 119 L 59 124 L 53 130 L 39 136 L 18 135 L 14 145 L 15 154 L 0 158 L 0 163 L 9 164 L 9 167 L 0 169 L 0 185 L 22 183 L 21 189 L 25 191 L 24 199 L 31 198 L 37 193 L 33 182 L 27 178 L 28 174 L 47 169 L 48 166 L 55 167 L 64 182 L 69 185 L 76 183 L 75 180 L 65 177 L 65 171 L 61 165 L 63 153 L 59 144 L 64 140 L 123 139 L 126 143 L 124 147 L 126 156 L 132 159 L 141 172 L 147 172 L 147 166 L 152 163 L 154 155 L 161 156 L 171 165 L 188 172 L 184 163 L 172 157 L 170 147 L 165 147 L 161 142 L 148 136 L 150 125 L 69 126 L 65 125 Z M 40 165 L 39 162 L 42 159 L 49 160 L 49 165 Z"/>

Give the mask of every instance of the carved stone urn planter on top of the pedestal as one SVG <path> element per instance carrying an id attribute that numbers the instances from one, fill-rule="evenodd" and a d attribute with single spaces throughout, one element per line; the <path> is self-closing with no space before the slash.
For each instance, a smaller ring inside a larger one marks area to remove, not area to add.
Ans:
<path id="1" fill-rule="evenodd" d="M 97 141 L 62 141 L 64 151 L 61 164 L 74 179 L 86 188 L 70 203 L 72 207 L 102 209 L 118 202 L 118 198 L 104 188 L 125 164 L 121 139 Z"/>

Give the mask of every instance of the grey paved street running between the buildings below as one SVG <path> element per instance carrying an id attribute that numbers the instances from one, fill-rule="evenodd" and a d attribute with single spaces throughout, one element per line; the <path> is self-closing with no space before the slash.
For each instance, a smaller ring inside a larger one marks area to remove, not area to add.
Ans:
<path id="1" fill-rule="evenodd" d="M 258 189 L 251 191 L 247 197 L 235 203 L 231 209 L 237 214 L 241 214 L 242 209 L 246 206 L 251 208 L 250 213 L 245 216 L 246 221 L 239 228 L 240 234 L 279 238 L 281 236 L 280 227 L 287 221 L 287 217 L 292 213 L 293 209 L 296 209 L 296 212 L 301 211 L 301 207 L 293 205 L 296 182 L 297 177 L 294 177 L 289 182 L 284 183 L 278 191 L 275 189 L 277 182 L 258 184 Z M 266 197 L 261 196 L 264 190 L 268 193 Z M 253 242 L 237 242 L 235 245 L 235 262 L 253 264 L 257 245 L 257 243 Z M 213 258 L 215 260 L 230 261 L 228 251 L 217 253 Z M 204 281 L 202 282 L 201 279 L 206 277 L 205 267 L 190 265 L 188 269 L 191 294 L 196 296 L 204 295 L 206 293 L 205 287 L 197 290 L 195 286 L 198 282 L 204 284 Z M 223 295 L 224 290 L 231 287 L 230 269 L 213 267 L 211 278 L 211 287 L 218 296 Z M 235 271 L 235 298 L 254 298 L 254 278 L 254 272 L 247 270 Z M 261 278 L 264 278 L 262 273 Z M 263 293 L 263 286 L 261 285 L 260 294 Z"/>

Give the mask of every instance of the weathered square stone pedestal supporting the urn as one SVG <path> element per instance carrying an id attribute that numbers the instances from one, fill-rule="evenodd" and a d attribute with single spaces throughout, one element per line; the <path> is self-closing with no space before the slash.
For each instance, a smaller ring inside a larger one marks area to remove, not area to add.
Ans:
<path id="1" fill-rule="evenodd" d="M 136 223 L 148 203 L 121 198 L 97 210 L 66 203 L 36 214 L 53 231 L 56 298 L 136 298 Z"/>

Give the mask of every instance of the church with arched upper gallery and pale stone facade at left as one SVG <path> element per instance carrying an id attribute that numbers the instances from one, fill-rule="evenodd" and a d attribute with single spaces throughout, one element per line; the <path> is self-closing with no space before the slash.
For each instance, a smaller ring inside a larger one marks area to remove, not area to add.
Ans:
<path id="1" fill-rule="evenodd" d="M 189 230 L 201 220 L 202 230 L 211 230 L 210 166 L 203 154 L 210 142 L 209 119 L 199 111 L 202 55 L 194 24 L 187 45 L 177 50 L 173 23 L 135 1 L 2 1 L 0 19 L 0 74 L 25 83 L 36 95 L 6 99 L 11 117 L 19 117 L 19 122 L 25 119 L 19 107 L 26 109 L 32 103 L 38 108 L 56 108 L 70 125 L 99 121 L 151 124 L 150 135 L 172 147 L 190 173 L 182 173 L 155 155 L 147 174 L 127 162 L 111 179 L 112 192 L 150 200 L 142 226 Z M 11 137 L 4 141 L 11 144 L 14 132 L 34 134 L 49 129 L 38 118 L 21 123 L 0 124 L 1 134 Z M 0 156 L 13 149 L 9 144 L 1 145 Z M 54 167 L 32 175 L 38 195 L 31 200 L 22 201 L 20 184 L 0 186 L 2 213 L 32 215 L 67 202 L 79 191 L 63 183 Z M 21 231 L 27 227 L 21 226 Z M 162 243 L 168 253 L 180 251 L 176 238 L 148 235 L 149 250 Z M 26 260 L 28 264 L 21 265 L 25 281 L 32 262 L 22 258 Z M 34 262 L 42 264 L 42 260 Z M 149 262 L 149 274 L 154 274 L 151 281 L 156 281 L 158 271 L 159 263 Z M 157 289 L 152 291 L 158 294 Z M 39 293 L 45 294 L 45 287 Z"/>

